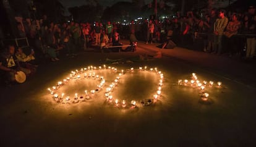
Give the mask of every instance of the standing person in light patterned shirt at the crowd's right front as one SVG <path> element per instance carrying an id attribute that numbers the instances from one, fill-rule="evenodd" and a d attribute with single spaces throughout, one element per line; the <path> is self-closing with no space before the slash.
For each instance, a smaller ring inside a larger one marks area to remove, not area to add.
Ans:
<path id="1" fill-rule="evenodd" d="M 223 31 L 228 25 L 228 18 L 225 17 L 226 11 L 221 9 L 219 13 L 219 19 L 216 19 L 214 23 L 214 40 L 213 40 L 213 52 L 212 54 L 221 54 L 222 52 L 222 36 Z"/>

